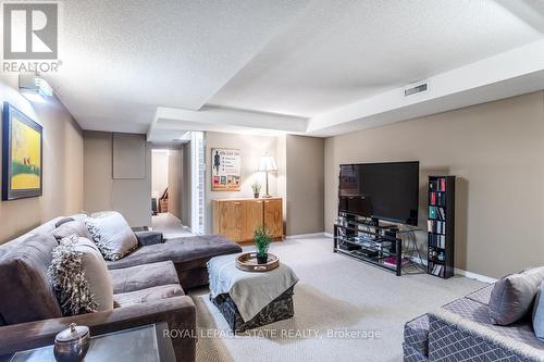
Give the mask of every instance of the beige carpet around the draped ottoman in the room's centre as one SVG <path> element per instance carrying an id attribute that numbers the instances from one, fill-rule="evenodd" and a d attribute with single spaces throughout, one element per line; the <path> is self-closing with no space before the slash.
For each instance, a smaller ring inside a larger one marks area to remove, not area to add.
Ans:
<path id="1" fill-rule="evenodd" d="M 234 337 L 208 290 L 195 290 L 197 361 L 401 361 L 405 322 L 484 286 L 458 276 L 397 277 L 333 253 L 329 238 L 275 242 L 271 252 L 300 278 L 295 316 Z"/>

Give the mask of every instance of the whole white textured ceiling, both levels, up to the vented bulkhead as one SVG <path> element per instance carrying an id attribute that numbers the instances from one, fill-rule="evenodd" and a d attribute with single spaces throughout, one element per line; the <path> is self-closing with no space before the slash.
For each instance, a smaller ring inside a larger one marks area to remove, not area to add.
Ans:
<path id="1" fill-rule="evenodd" d="M 62 4 L 63 64 L 46 76 L 62 102 L 85 129 L 157 127 L 161 139 L 196 128 L 326 136 L 317 126 L 332 127 L 337 110 L 539 43 L 544 30 L 530 0 Z"/>

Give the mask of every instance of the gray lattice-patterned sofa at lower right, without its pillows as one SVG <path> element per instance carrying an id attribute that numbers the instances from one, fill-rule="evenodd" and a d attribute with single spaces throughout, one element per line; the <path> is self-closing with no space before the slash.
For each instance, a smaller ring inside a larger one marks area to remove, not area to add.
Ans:
<path id="1" fill-rule="evenodd" d="M 544 361 L 544 342 L 530 317 L 498 326 L 491 324 L 493 285 L 457 299 L 405 325 L 405 362 L 536 362 Z"/>

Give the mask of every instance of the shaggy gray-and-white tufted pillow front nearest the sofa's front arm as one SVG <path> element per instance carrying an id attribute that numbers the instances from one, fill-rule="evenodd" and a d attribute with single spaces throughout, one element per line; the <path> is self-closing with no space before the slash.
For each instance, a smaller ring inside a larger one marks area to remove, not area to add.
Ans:
<path id="1" fill-rule="evenodd" d="M 85 278 L 82 253 L 75 249 L 76 241 L 76 235 L 62 239 L 53 249 L 48 269 L 62 314 L 66 316 L 96 312 L 98 307 Z"/>

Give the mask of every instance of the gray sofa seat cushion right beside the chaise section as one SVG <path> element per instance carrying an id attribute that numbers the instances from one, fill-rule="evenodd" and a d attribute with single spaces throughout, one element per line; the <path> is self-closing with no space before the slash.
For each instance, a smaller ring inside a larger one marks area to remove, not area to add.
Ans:
<path id="1" fill-rule="evenodd" d="M 137 265 L 110 271 L 113 292 L 128 292 L 150 287 L 180 284 L 171 261 Z"/>

